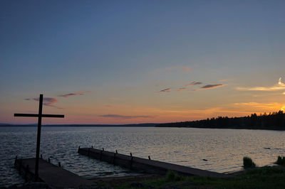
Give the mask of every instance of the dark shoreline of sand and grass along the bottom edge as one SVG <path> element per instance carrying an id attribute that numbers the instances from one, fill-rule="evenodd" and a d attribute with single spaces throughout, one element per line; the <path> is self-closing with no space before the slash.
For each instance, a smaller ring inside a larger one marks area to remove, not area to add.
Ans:
<path id="1" fill-rule="evenodd" d="M 229 174 L 227 178 L 183 176 L 175 172 L 166 175 L 144 174 L 122 177 L 89 178 L 94 185 L 81 188 L 284 188 L 284 166 L 263 166 Z M 46 183 L 17 183 L 6 188 L 51 188 Z"/>

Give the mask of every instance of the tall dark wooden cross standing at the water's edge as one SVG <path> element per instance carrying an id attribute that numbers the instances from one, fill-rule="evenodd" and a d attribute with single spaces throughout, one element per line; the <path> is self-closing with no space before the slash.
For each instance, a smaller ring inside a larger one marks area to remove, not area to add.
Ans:
<path id="1" fill-rule="evenodd" d="M 35 180 L 38 181 L 38 158 L 40 153 L 41 143 L 41 118 L 42 117 L 64 117 L 64 115 L 42 114 L 43 110 L 43 95 L 39 98 L 38 114 L 14 114 L 14 117 L 38 117 L 38 135 L 36 140 L 36 166 L 35 166 Z"/>

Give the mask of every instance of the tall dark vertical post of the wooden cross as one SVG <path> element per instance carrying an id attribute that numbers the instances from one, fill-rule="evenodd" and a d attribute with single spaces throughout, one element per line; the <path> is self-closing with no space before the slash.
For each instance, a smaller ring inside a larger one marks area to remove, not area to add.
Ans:
<path id="1" fill-rule="evenodd" d="M 35 166 L 35 179 L 38 181 L 38 158 L 40 154 L 41 144 L 41 116 L 43 112 L 43 95 L 40 95 L 39 106 L 38 106 L 38 134 L 36 139 L 36 166 Z"/>

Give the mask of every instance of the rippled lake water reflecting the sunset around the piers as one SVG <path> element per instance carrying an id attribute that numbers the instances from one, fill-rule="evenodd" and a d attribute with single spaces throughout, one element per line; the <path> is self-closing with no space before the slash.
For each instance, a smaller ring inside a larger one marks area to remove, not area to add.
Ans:
<path id="1" fill-rule="evenodd" d="M 43 127 L 41 153 L 51 163 L 83 177 L 132 174 L 77 153 L 78 146 L 118 150 L 142 158 L 177 163 L 219 173 L 238 171 L 242 158 L 257 166 L 285 156 L 285 131 L 154 127 Z M 0 186 L 22 183 L 14 158 L 35 156 L 36 127 L 0 127 Z M 208 161 L 203 161 L 207 159 Z"/>

